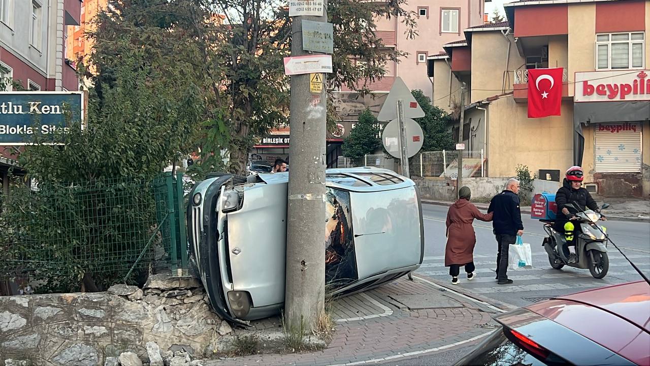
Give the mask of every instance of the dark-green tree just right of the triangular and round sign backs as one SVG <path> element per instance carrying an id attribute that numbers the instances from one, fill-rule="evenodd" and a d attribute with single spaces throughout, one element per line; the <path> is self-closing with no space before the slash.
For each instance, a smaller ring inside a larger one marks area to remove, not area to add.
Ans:
<path id="1" fill-rule="evenodd" d="M 447 113 L 433 106 L 431 99 L 421 90 L 411 91 L 411 94 L 424 111 L 424 117 L 415 119 L 424 133 L 422 151 L 440 151 L 454 147 L 452 134 L 447 130 L 447 122 L 450 118 Z"/>

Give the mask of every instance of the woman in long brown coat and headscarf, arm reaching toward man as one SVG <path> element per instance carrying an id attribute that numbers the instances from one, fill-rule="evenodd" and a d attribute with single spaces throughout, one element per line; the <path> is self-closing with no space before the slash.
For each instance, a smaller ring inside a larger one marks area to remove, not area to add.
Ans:
<path id="1" fill-rule="evenodd" d="M 462 187 L 458 192 L 458 201 L 449 207 L 447 212 L 447 247 L 445 248 L 445 266 L 449 267 L 451 283 L 458 285 L 460 266 L 465 266 L 467 279 L 476 277 L 474 274 L 474 245 L 476 234 L 472 223 L 474 219 L 492 221 L 492 214 L 482 214 L 471 198 L 469 187 Z"/>

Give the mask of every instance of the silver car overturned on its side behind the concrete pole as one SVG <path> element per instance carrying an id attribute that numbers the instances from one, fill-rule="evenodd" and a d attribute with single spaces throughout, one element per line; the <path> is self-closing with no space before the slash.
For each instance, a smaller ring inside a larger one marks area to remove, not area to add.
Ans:
<path id="1" fill-rule="evenodd" d="M 283 308 L 288 178 L 217 175 L 192 190 L 190 259 L 221 317 L 241 322 Z M 367 290 L 419 268 L 424 229 L 412 180 L 385 169 L 328 169 L 326 186 L 325 235 L 314 245 L 326 251 L 328 294 Z"/>

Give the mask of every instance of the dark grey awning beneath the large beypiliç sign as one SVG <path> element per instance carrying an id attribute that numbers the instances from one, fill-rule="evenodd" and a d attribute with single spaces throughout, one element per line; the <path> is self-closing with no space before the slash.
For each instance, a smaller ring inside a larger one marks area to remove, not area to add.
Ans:
<path id="1" fill-rule="evenodd" d="M 580 102 L 573 104 L 573 165 L 582 165 L 582 124 L 633 122 L 650 119 L 650 100 L 636 102 Z"/>

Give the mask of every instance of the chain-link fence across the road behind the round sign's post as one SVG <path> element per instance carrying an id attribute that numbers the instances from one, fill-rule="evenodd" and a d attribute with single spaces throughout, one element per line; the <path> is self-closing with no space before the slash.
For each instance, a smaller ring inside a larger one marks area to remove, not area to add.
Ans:
<path id="1" fill-rule="evenodd" d="M 409 159 L 411 176 L 446 176 L 456 179 L 458 175 L 458 151 L 425 151 Z M 463 151 L 463 176 L 485 176 L 485 157 L 483 150 Z M 399 170 L 399 160 L 383 154 L 365 155 L 352 159 L 339 156 L 339 168 L 380 167 L 392 171 Z"/>

